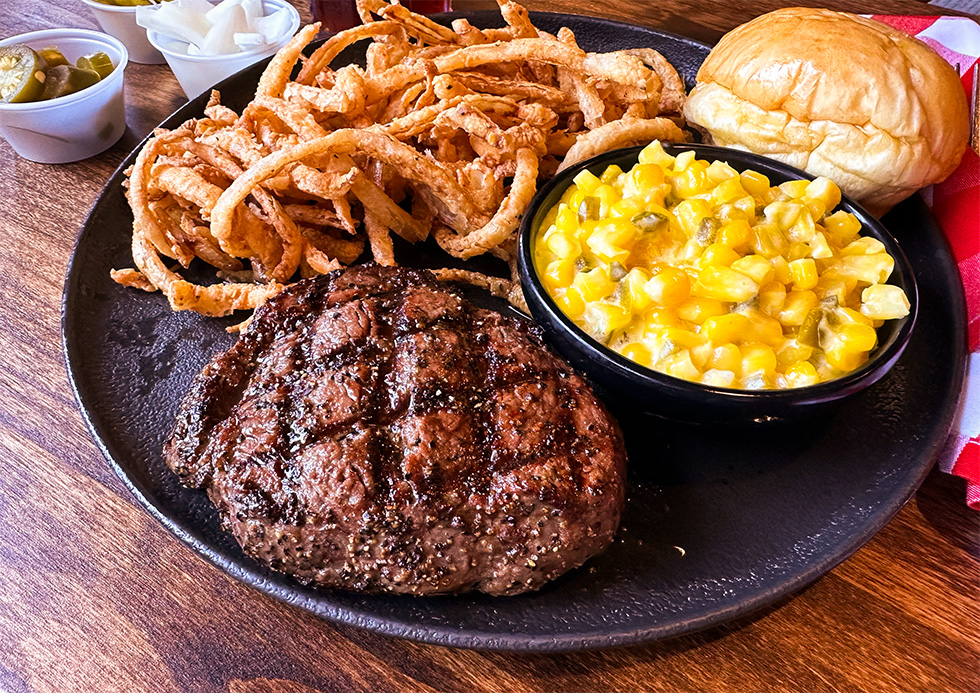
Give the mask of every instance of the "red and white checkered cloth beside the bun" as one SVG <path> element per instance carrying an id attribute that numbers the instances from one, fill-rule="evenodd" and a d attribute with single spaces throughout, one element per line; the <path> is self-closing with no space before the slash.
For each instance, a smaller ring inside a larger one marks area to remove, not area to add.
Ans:
<path id="1" fill-rule="evenodd" d="M 975 113 L 980 79 L 980 24 L 969 17 L 872 15 L 929 44 L 956 68 Z M 980 156 L 967 149 L 953 174 L 922 191 L 949 238 L 966 292 L 970 361 L 960 411 L 939 468 L 966 479 L 966 502 L 980 510 Z"/>

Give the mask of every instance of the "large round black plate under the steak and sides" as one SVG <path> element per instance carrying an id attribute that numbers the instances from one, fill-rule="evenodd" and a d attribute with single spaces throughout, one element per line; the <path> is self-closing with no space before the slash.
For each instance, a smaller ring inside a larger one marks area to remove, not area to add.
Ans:
<path id="1" fill-rule="evenodd" d="M 477 26 L 495 14 L 468 15 Z M 590 50 L 652 46 L 690 82 L 707 47 L 649 29 L 534 14 Z M 353 56 L 348 56 L 351 59 Z M 260 68 L 221 85 L 233 108 Z M 204 97 L 164 125 L 200 115 Z M 689 633 L 801 589 L 868 541 L 912 495 L 945 441 L 962 387 L 965 308 L 956 266 L 922 201 L 886 219 L 911 258 L 920 323 L 882 381 L 829 420 L 791 429 L 704 429 L 622 417 L 630 486 L 620 538 L 585 567 L 519 597 L 413 598 L 318 591 L 246 557 L 203 492 L 180 487 L 161 445 L 193 375 L 233 340 L 231 320 L 173 313 L 117 286 L 132 216 L 122 168 L 95 203 L 68 269 L 69 376 L 96 443 L 147 509 L 235 578 L 325 619 L 419 641 L 558 651 Z M 615 402 L 610 402 L 616 408 Z"/>

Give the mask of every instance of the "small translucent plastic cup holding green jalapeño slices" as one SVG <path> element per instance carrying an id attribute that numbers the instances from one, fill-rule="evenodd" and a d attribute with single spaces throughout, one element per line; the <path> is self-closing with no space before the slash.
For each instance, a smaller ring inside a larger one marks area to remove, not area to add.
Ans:
<path id="1" fill-rule="evenodd" d="M 0 136 L 20 156 L 42 164 L 80 161 L 105 151 L 126 131 L 123 73 L 129 61 L 119 39 L 86 29 L 32 31 L 0 41 L 35 50 L 56 46 L 74 64 L 103 51 L 115 65 L 103 80 L 47 101 L 0 103 Z"/>

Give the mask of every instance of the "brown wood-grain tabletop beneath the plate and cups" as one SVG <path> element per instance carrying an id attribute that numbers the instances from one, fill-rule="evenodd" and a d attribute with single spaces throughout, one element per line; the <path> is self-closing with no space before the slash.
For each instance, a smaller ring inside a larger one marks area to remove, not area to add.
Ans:
<path id="1" fill-rule="evenodd" d="M 788 3 L 527 4 L 710 42 Z M 937 11 L 910 0 L 826 4 Z M 3 0 L 0 10 L 0 36 L 72 25 L 97 28 L 77 1 Z M 62 284 L 86 213 L 126 153 L 185 100 L 165 66 L 131 64 L 126 80 L 129 129 L 100 156 L 42 166 L 0 142 L 0 690 L 980 690 L 978 516 L 962 482 L 938 472 L 867 546 L 794 598 L 705 633 L 610 651 L 514 655 L 394 640 L 319 621 L 199 558 L 99 454 L 61 352 Z"/>

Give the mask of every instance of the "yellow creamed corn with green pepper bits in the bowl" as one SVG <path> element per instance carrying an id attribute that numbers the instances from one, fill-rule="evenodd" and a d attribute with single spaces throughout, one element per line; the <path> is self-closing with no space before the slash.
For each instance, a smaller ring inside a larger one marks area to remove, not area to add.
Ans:
<path id="1" fill-rule="evenodd" d="M 674 157 L 659 142 L 624 172 L 583 170 L 546 215 L 535 267 L 593 338 L 718 387 L 813 385 L 854 370 L 884 320 L 908 314 L 893 258 L 827 178 Z"/>

